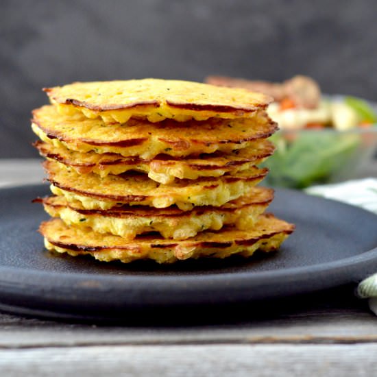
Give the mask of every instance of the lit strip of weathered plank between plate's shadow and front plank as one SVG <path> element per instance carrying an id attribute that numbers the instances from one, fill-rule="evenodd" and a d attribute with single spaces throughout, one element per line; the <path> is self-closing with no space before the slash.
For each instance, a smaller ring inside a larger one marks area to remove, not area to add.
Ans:
<path id="1" fill-rule="evenodd" d="M 377 342 L 377 319 L 369 313 L 336 317 L 296 317 L 247 324 L 149 327 L 25 323 L 0 327 L 0 348 L 203 343 L 363 343 Z"/>

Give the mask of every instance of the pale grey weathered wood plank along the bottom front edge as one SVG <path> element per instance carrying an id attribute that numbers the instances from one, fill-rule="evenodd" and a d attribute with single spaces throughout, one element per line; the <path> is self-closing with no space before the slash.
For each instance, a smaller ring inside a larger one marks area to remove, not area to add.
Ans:
<path id="1" fill-rule="evenodd" d="M 376 376 L 377 344 L 0 350 L 3 376 Z"/>

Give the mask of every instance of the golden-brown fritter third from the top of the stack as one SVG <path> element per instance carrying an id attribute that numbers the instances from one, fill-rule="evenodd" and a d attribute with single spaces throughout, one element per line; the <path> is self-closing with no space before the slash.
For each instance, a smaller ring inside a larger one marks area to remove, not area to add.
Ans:
<path id="1" fill-rule="evenodd" d="M 80 174 L 96 173 L 101 177 L 121 174 L 125 171 L 147 173 L 151 180 L 171 184 L 175 178 L 196 180 L 200 177 L 219 177 L 236 174 L 258 165 L 274 151 L 268 140 L 251 143 L 247 148 L 235 149 L 230 154 L 217 152 L 188 158 L 175 158 L 160 154 L 150 160 L 140 157 L 123 157 L 120 154 L 97 154 L 95 151 L 82 153 L 72 151 L 64 145 L 55 146 L 41 141 L 34 143 L 40 155 L 72 167 Z"/>

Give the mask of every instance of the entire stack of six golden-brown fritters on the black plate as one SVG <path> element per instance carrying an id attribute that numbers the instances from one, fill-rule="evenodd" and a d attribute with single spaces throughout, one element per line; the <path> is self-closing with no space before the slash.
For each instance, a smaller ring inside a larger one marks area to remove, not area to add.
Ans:
<path id="1" fill-rule="evenodd" d="M 156 79 L 45 91 L 32 128 L 54 194 L 42 199 L 47 249 L 172 263 L 269 252 L 293 232 L 256 186 L 277 130 L 269 97 Z"/>

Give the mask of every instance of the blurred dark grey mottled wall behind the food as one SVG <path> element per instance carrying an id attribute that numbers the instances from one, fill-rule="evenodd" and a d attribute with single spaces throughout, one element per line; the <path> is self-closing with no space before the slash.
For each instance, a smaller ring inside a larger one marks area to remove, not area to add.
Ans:
<path id="1" fill-rule="evenodd" d="M 377 1 L 4 1 L 0 157 L 37 157 L 30 111 L 43 86 L 206 75 L 318 80 L 377 97 Z"/>

